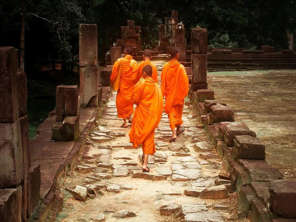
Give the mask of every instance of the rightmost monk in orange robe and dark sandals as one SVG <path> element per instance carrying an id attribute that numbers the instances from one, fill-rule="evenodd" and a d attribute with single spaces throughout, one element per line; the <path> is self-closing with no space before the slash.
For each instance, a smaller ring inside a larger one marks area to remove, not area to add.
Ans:
<path id="1" fill-rule="evenodd" d="M 178 62 L 179 49 L 170 49 L 172 59 L 166 62 L 161 73 L 161 93 L 165 96 L 164 111 L 168 114 L 170 128 L 173 136 L 169 141 L 175 141 L 177 136 L 184 133 L 185 129 L 181 125 L 184 98 L 189 91 L 189 80 L 183 65 Z M 177 131 L 175 132 L 175 128 Z"/>

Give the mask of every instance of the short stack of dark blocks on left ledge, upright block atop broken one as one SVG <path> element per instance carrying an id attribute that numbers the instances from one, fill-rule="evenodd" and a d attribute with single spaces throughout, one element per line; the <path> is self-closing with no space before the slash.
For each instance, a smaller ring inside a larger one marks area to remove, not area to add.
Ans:
<path id="1" fill-rule="evenodd" d="M 52 126 L 52 140 L 77 140 L 80 134 L 78 86 L 57 86 L 56 110 L 56 122 Z"/>

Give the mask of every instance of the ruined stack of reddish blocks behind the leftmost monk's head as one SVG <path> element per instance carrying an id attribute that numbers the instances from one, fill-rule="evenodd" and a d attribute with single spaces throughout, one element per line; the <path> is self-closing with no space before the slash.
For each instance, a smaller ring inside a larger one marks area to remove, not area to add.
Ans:
<path id="1" fill-rule="evenodd" d="M 112 65 L 121 57 L 127 47 L 133 48 L 133 54 L 141 51 L 142 41 L 140 37 L 141 26 L 135 26 L 133 20 L 127 21 L 127 26 L 121 27 L 121 39 L 116 41 L 116 47 L 111 48 Z"/>

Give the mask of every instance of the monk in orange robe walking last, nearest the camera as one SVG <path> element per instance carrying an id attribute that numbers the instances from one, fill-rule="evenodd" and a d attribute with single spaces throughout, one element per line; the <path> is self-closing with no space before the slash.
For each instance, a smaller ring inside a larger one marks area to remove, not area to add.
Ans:
<path id="1" fill-rule="evenodd" d="M 154 133 L 163 113 L 163 96 L 151 78 L 152 66 L 143 67 L 143 78 L 133 90 L 133 102 L 137 105 L 133 115 L 133 124 L 128 134 L 133 147 L 142 144 L 143 172 L 149 173 L 148 156 L 155 153 Z"/>

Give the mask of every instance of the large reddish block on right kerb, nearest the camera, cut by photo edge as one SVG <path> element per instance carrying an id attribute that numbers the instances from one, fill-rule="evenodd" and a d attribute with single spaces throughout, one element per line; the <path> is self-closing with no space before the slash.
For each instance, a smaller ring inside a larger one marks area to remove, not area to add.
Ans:
<path id="1" fill-rule="evenodd" d="M 270 208 L 286 218 L 296 217 L 296 180 L 270 182 Z"/>

